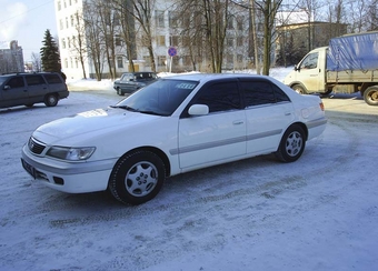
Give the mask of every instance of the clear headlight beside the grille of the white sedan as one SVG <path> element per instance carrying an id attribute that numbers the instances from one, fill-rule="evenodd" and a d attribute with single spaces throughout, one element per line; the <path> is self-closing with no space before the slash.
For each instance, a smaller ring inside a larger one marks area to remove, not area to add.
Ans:
<path id="1" fill-rule="evenodd" d="M 53 145 L 49 149 L 46 155 L 69 161 L 82 161 L 90 158 L 94 150 L 94 147 L 67 148 Z"/>

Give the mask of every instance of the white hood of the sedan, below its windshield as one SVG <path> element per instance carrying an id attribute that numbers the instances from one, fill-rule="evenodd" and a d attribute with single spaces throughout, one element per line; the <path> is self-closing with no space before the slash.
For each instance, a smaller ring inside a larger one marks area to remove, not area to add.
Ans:
<path id="1" fill-rule="evenodd" d="M 158 118 L 161 117 L 130 112 L 120 108 L 96 109 L 46 123 L 34 131 L 33 137 L 53 144 L 61 139 L 123 129 Z"/>

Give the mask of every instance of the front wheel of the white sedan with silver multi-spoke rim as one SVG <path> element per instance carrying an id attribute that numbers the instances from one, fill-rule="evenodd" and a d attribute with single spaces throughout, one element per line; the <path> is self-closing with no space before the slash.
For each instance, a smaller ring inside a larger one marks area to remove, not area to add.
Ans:
<path id="1" fill-rule="evenodd" d="M 126 204 L 141 204 L 153 199 L 166 179 L 162 160 L 150 151 L 135 151 L 115 165 L 109 190 L 115 199 Z"/>

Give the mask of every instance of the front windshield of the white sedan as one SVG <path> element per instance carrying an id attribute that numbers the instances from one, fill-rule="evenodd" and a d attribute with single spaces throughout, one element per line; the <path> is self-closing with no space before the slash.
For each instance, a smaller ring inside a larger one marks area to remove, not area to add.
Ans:
<path id="1" fill-rule="evenodd" d="M 198 84 L 197 81 L 160 79 L 120 101 L 130 111 L 170 116 Z"/>

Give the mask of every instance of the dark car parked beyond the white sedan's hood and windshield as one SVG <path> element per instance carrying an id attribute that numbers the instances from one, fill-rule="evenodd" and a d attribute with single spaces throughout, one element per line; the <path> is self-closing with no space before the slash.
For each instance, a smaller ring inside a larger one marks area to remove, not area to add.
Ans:
<path id="1" fill-rule="evenodd" d="M 113 83 L 117 94 L 125 96 L 156 81 L 158 76 L 155 72 L 127 72 Z"/>

